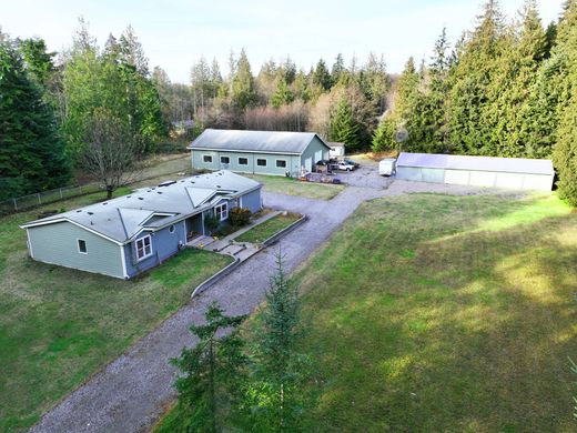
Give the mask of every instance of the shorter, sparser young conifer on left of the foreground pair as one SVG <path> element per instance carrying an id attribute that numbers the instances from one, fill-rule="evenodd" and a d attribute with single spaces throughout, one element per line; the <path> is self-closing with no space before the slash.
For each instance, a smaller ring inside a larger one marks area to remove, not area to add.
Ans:
<path id="1" fill-rule="evenodd" d="M 171 360 L 183 373 L 175 382 L 179 419 L 174 425 L 186 433 L 222 431 L 233 422 L 243 389 L 242 370 L 246 358 L 243 340 L 235 329 L 245 316 L 226 316 L 213 303 L 205 319 L 204 325 L 190 328 L 199 343 L 192 349 L 184 348 L 180 358 Z M 233 332 L 219 339 L 217 334 L 227 329 Z"/>

